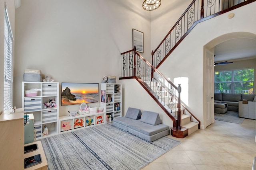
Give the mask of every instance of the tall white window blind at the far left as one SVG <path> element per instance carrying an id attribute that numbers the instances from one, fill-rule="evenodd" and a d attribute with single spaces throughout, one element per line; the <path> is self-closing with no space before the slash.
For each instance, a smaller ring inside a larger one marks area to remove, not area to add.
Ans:
<path id="1" fill-rule="evenodd" d="M 4 108 L 12 108 L 12 31 L 5 4 L 4 17 Z"/>

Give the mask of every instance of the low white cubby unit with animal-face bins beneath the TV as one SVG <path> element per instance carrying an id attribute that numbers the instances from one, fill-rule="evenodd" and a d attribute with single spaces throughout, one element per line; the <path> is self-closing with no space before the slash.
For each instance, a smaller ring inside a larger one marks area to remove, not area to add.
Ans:
<path id="1" fill-rule="evenodd" d="M 106 123 L 106 112 L 77 114 L 59 117 L 59 134 Z"/>

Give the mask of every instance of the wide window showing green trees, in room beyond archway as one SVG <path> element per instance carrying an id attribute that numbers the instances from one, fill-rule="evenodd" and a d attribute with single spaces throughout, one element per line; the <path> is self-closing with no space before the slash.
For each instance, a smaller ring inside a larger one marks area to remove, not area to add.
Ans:
<path id="1" fill-rule="evenodd" d="M 253 94 L 253 84 L 253 68 L 215 72 L 215 91 L 223 93 Z"/>

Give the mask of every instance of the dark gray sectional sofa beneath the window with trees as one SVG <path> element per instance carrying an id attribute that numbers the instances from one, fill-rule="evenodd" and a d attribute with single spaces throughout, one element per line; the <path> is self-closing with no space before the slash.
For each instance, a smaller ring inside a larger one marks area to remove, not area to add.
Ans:
<path id="1" fill-rule="evenodd" d="M 255 94 L 232 94 L 232 93 L 214 93 L 214 103 L 228 104 L 228 110 L 238 111 L 239 101 L 253 101 Z"/>

